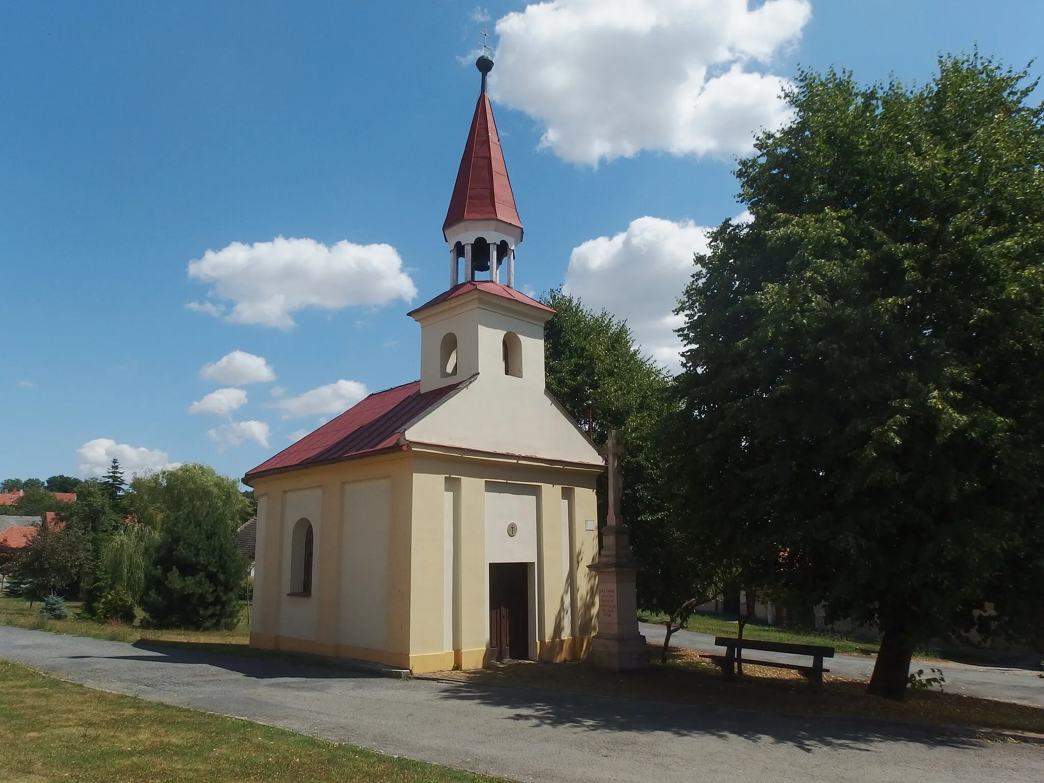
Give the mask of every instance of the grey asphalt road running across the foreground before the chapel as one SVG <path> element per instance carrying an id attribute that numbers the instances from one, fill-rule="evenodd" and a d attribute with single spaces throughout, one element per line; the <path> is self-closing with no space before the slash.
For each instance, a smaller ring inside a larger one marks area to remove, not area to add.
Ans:
<path id="1" fill-rule="evenodd" d="M 521 781 L 1044 780 L 1044 745 L 869 721 L 388 680 L 8 626 L 0 626 L 0 658 L 94 688 Z"/>

